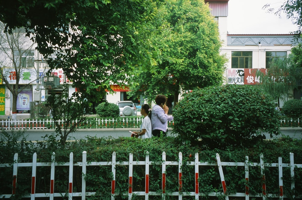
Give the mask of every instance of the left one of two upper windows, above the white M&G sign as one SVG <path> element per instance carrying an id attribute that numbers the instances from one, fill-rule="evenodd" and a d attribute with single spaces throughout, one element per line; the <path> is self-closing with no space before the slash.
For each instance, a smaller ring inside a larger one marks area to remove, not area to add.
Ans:
<path id="1" fill-rule="evenodd" d="M 232 68 L 252 68 L 251 51 L 232 51 Z"/>

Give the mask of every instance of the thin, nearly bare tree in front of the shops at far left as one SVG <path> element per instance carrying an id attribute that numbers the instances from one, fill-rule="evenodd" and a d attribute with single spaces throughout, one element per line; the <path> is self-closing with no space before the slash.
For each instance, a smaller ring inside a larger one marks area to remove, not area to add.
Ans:
<path id="1" fill-rule="evenodd" d="M 36 83 L 39 63 L 35 64 L 34 43 L 25 37 L 24 28 L 16 28 L 11 34 L 4 33 L 4 28 L 0 23 L 0 75 L 11 92 L 12 116 L 16 119 L 17 101 L 24 98 L 23 103 L 29 106 L 30 100 L 22 90 Z"/>

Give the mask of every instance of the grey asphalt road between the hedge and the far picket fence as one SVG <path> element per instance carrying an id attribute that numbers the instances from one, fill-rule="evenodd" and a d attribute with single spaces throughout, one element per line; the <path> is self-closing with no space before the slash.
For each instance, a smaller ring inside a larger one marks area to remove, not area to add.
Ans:
<path id="1" fill-rule="evenodd" d="M 75 139 L 85 139 L 86 136 L 96 136 L 96 137 L 130 137 L 131 133 L 129 131 L 138 131 L 138 129 L 80 129 L 76 132 L 69 134 L 69 140 Z M 168 131 L 168 135 L 171 135 L 172 130 Z M 54 130 L 26 130 L 25 135 L 27 136 L 27 141 L 41 141 L 43 136 L 46 134 L 50 135 L 54 133 Z M 282 135 L 288 135 L 292 138 L 302 139 L 302 128 L 282 128 L 281 133 L 274 138 L 282 137 Z M 270 139 L 269 134 L 265 134 L 266 139 Z M 59 138 L 57 138 L 59 139 Z"/>

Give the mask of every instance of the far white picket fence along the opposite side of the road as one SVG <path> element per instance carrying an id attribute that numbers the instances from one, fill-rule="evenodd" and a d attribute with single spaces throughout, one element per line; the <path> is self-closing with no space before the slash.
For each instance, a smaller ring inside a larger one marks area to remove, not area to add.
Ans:
<path id="1" fill-rule="evenodd" d="M 78 120 L 72 122 L 76 124 L 79 129 L 103 129 L 103 128 L 139 128 L 142 123 L 142 117 L 136 118 L 110 118 L 110 119 L 89 119 L 85 123 L 79 123 Z M 58 121 L 63 127 L 66 124 L 63 119 Z M 300 119 L 281 119 L 280 124 L 283 127 L 300 127 Z M 174 125 L 174 121 L 168 122 L 169 126 Z M 52 119 L 2 119 L 0 120 L 0 128 L 5 130 L 19 130 L 19 129 L 55 129 L 54 121 Z"/>

